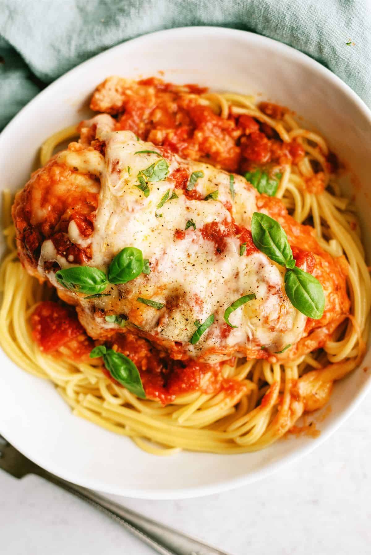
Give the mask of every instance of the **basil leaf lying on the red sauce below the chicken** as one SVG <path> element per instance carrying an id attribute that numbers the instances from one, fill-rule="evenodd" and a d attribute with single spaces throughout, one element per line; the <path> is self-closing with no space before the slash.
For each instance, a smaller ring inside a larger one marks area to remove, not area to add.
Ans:
<path id="1" fill-rule="evenodd" d="M 103 361 L 105 362 L 106 369 L 115 380 L 137 397 L 141 399 L 146 398 L 139 371 L 132 360 L 122 355 L 121 352 L 108 349 L 103 356 Z"/>

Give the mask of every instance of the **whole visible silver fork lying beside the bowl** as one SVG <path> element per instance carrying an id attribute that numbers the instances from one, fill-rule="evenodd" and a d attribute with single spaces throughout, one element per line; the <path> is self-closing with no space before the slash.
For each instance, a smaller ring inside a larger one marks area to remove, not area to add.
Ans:
<path id="1" fill-rule="evenodd" d="M 208 546 L 186 534 L 164 526 L 164 524 L 130 511 L 91 490 L 58 478 L 24 457 L 2 436 L 0 436 L 0 468 L 16 478 L 23 478 L 27 474 L 36 474 L 55 483 L 63 490 L 87 501 L 93 507 L 101 509 L 161 555 L 228 555 L 220 549 Z"/>

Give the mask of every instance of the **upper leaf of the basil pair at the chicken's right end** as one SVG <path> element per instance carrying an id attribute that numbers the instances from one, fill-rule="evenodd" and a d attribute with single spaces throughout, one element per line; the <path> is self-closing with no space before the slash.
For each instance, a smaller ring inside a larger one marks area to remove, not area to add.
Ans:
<path id="1" fill-rule="evenodd" d="M 281 266 L 292 264 L 290 261 L 293 260 L 293 251 L 285 230 L 278 221 L 266 214 L 254 212 L 251 218 L 251 235 L 256 248 L 271 260 Z"/>

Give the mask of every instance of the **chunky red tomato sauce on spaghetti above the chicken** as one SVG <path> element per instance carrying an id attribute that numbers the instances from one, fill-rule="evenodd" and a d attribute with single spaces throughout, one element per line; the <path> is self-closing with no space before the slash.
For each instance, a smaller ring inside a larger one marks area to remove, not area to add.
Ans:
<path id="1" fill-rule="evenodd" d="M 117 114 L 117 129 L 131 130 L 182 158 L 243 173 L 251 164 L 298 163 L 304 157 L 300 143 L 283 143 L 268 124 L 246 114 L 229 113 L 227 118 L 221 118 L 202 105 L 199 95 L 206 88 L 180 87 L 152 77 L 135 84 L 117 84 L 121 96 L 115 95 L 110 104 L 101 98 L 104 85 L 93 95 L 93 110 Z M 110 90 L 107 84 L 108 97 Z M 259 107 L 275 119 L 282 119 L 289 112 L 288 108 L 268 102 Z M 185 189 L 179 183 L 176 187 Z"/>

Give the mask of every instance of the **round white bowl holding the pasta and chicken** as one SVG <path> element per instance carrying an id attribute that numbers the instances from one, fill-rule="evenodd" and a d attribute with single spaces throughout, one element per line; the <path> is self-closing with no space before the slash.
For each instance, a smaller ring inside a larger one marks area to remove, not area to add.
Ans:
<path id="1" fill-rule="evenodd" d="M 1 186 L 14 191 L 26 183 L 39 145 L 85 117 L 87 99 L 108 75 L 140 78 L 159 70 L 175 83 L 262 94 L 303 115 L 362 184 L 354 192 L 364 244 L 371 252 L 368 108 L 338 77 L 304 54 L 233 29 L 189 27 L 145 35 L 63 75 L 23 108 L 0 136 Z M 362 367 L 370 365 L 370 359 L 369 353 Z M 0 432 L 34 462 L 82 486 L 130 497 L 200 496 L 258 480 L 319 445 L 360 402 L 371 386 L 370 377 L 360 368 L 338 382 L 330 400 L 332 412 L 318 425 L 321 434 L 315 440 L 289 436 L 256 453 L 184 452 L 162 458 L 73 416 L 50 383 L 28 375 L 0 352 Z"/>

